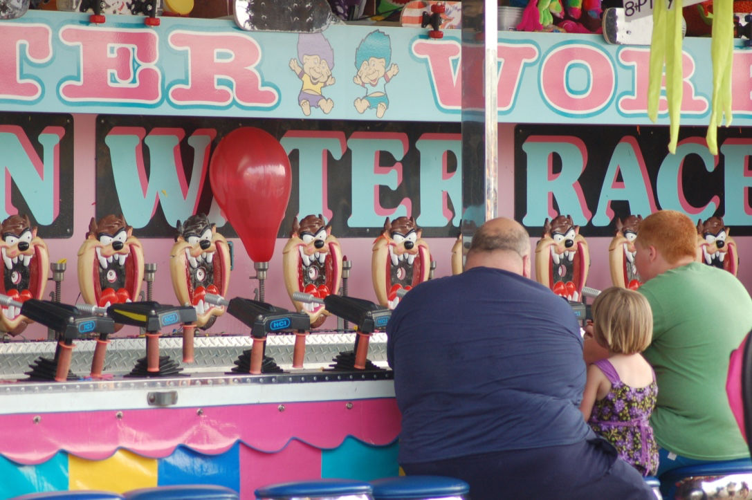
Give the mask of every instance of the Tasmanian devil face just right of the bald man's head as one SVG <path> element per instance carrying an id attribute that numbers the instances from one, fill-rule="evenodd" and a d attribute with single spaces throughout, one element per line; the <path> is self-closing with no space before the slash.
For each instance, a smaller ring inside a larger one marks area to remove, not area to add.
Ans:
<path id="1" fill-rule="evenodd" d="M 535 245 L 535 279 L 571 301 L 579 301 L 587 280 L 590 253 L 569 215 L 543 225 L 543 236 Z"/>

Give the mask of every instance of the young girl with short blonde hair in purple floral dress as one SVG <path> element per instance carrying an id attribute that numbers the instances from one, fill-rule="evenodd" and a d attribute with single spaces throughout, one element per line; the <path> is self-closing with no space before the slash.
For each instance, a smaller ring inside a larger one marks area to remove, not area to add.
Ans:
<path id="1" fill-rule="evenodd" d="M 650 305 L 638 292 L 613 286 L 593 301 L 593 338 L 608 359 L 587 368 L 580 411 L 596 432 L 644 476 L 658 468 L 650 414 L 658 388 L 653 368 L 641 356 L 653 335 Z"/>

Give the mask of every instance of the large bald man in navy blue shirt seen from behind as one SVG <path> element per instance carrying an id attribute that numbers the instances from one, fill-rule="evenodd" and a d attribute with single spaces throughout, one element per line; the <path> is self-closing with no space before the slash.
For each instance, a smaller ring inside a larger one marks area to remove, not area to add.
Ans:
<path id="1" fill-rule="evenodd" d="M 393 311 L 400 465 L 459 477 L 473 500 L 655 498 L 582 418 L 579 324 L 529 274 L 526 230 L 493 219 L 462 274 L 421 283 Z"/>

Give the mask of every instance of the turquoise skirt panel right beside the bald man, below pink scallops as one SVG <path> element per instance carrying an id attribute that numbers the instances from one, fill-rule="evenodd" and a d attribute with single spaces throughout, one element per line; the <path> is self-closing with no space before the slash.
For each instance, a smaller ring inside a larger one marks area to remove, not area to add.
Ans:
<path id="1" fill-rule="evenodd" d="M 372 446 L 347 438 L 334 450 L 321 452 L 321 477 L 373 480 L 399 475 L 398 441 L 387 446 Z"/>

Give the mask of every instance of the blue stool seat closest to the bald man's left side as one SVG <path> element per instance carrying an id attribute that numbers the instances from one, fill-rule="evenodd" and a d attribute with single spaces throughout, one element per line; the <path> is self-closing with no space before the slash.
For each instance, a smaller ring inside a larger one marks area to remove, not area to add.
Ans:
<path id="1" fill-rule="evenodd" d="M 371 481 L 374 500 L 407 500 L 408 498 L 445 498 L 462 500 L 470 485 L 461 479 L 445 476 L 384 477 Z"/>

